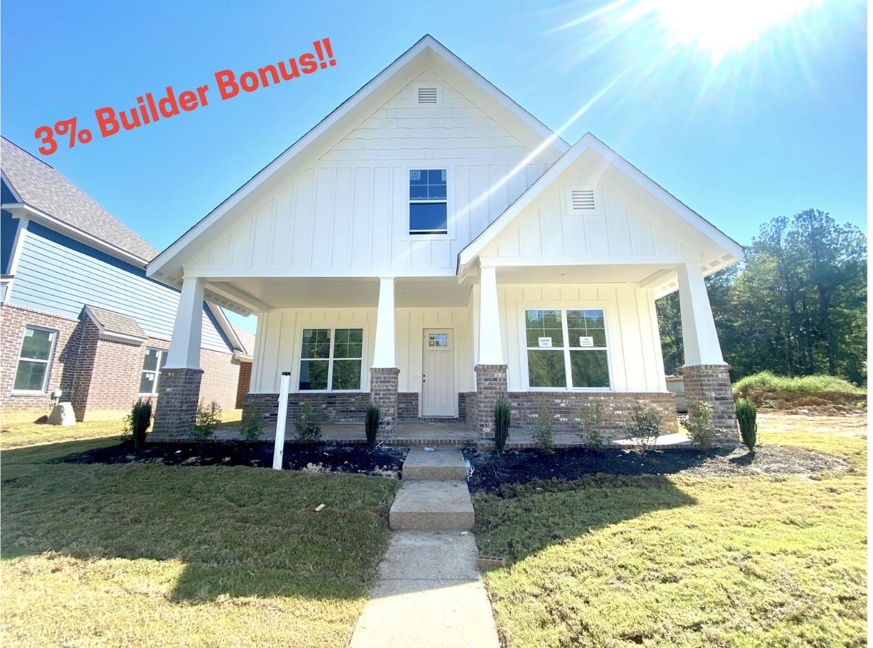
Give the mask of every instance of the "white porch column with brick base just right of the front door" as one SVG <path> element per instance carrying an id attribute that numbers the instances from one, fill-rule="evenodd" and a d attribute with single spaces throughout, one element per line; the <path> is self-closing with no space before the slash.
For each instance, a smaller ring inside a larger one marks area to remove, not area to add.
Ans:
<path id="1" fill-rule="evenodd" d="M 480 439 L 494 438 L 494 403 L 506 396 L 506 364 L 500 335 L 497 269 L 479 269 L 479 357 L 476 366 L 476 427 Z"/>

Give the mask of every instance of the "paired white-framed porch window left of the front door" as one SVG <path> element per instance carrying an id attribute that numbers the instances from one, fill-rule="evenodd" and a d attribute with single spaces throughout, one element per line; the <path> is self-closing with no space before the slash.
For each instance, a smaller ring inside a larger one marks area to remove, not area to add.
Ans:
<path id="1" fill-rule="evenodd" d="M 304 328 L 299 390 L 361 389 L 362 328 Z"/>

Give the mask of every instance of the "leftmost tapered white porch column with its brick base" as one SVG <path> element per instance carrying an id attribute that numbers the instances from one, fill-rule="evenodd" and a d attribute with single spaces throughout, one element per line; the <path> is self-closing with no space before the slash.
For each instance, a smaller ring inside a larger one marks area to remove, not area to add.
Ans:
<path id="1" fill-rule="evenodd" d="M 203 327 L 203 279 L 184 279 L 167 363 L 158 378 L 155 422 L 148 438 L 188 438 L 200 398 L 200 334 Z"/>

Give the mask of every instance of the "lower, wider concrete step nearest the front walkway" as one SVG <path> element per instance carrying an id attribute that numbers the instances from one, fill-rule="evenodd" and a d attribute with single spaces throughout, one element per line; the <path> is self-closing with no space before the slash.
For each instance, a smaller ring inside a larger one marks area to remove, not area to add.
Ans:
<path id="1" fill-rule="evenodd" d="M 471 530 L 476 522 L 466 481 L 403 479 L 388 514 L 388 526 L 438 531 Z"/>

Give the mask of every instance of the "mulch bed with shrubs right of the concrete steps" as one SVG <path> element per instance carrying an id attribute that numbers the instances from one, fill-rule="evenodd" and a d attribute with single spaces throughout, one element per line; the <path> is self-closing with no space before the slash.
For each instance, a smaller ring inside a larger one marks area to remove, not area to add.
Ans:
<path id="1" fill-rule="evenodd" d="M 783 445 L 760 445 L 756 452 L 735 450 L 673 450 L 637 453 L 627 450 L 588 452 L 582 448 L 509 450 L 502 458 L 493 452 L 464 449 L 473 467 L 471 493 L 499 493 L 502 484 L 526 484 L 536 479 L 579 479 L 598 472 L 614 475 L 732 477 L 737 475 L 810 475 L 845 469 L 841 459 L 821 452 Z"/>

